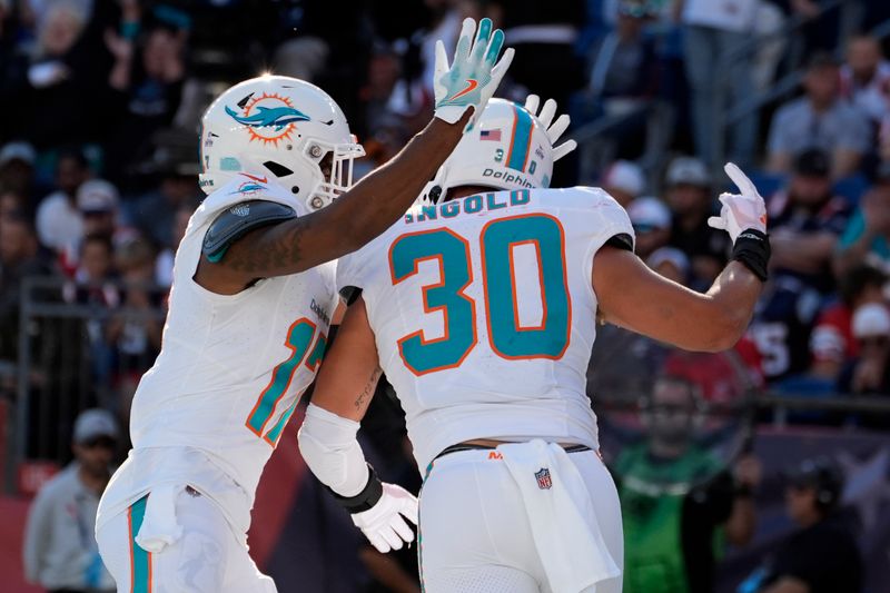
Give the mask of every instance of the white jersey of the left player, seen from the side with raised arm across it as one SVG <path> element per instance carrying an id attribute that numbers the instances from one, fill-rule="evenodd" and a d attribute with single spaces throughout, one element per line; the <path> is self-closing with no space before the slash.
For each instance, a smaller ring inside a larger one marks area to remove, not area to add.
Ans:
<path id="1" fill-rule="evenodd" d="M 192 279 L 210 224 L 227 208 L 246 216 L 239 202 L 256 199 L 306 214 L 288 190 L 241 175 L 192 215 L 176 254 L 161 352 L 132 402 L 134 448 L 106 493 L 106 515 L 178 482 L 220 503 L 237 530 L 249 525 L 263 467 L 315 377 L 338 303 L 335 263 L 234 296 Z"/>

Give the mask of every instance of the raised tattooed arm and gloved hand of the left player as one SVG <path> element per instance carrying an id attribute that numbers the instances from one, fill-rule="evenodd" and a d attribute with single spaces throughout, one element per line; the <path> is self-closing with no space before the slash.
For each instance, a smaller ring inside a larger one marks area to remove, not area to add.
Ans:
<path id="1" fill-rule="evenodd" d="M 258 278 L 309 269 L 348 254 L 396 221 L 435 175 L 494 93 L 513 51 L 500 61 L 504 33 L 483 19 L 464 21 L 449 66 L 441 45 L 436 53 L 436 109 L 433 120 L 388 164 L 344 192 L 333 205 L 247 233 L 218 261 L 202 257 L 198 284 L 235 294 Z"/>

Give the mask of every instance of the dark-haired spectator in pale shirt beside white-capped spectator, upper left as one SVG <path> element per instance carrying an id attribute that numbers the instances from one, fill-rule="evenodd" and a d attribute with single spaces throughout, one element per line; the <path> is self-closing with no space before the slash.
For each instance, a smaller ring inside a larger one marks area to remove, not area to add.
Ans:
<path id="1" fill-rule="evenodd" d="M 77 190 L 90 176 L 82 152 L 59 154 L 56 164 L 57 190 L 37 208 L 37 234 L 41 245 L 56 251 L 75 248 L 83 237 L 83 217 L 77 209 Z"/>

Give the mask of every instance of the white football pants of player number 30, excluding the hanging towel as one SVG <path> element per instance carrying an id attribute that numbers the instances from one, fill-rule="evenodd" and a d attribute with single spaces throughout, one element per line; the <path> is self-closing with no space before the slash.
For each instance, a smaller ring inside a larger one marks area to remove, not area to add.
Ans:
<path id="1" fill-rule="evenodd" d="M 621 506 L 612 476 L 593 451 L 568 453 L 584 486 L 570 492 L 578 507 L 592 503 L 584 525 L 599 532 L 614 565 L 623 570 Z M 534 473 L 537 477 L 538 474 Z M 532 481 L 534 477 L 528 476 Z M 542 475 L 541 487 L 560 476 Z M 565 483 L 566 481 L 562 481 Z M 534 485 L 534 482 L 533 482 Z M 590 501 L 590 502 L 587 502 Z M 426 593 L 578 593 L 553 591 L 536 550 L 528 508 L 496 451 L 448 453 L 427 472 L 419 498 L 418 546 Z M 558 513 L 557 510 L 555 513 Z M 555 514 L 554 513 L 554 514 Z M 546 514 L 546 512 L 544 513 Z M 541 516 L 535 517 L 538 530 Z M 564 517 L 544 516 L 560 524 Z M 558 535 L 556 535 L 558 536 Z M 537 544 L 542 545 L 538 538 Z M 583 559 L 582 559 L 583 562 Z M 584 587 L 584 593 L 621 593 L 622 575 Z"/>

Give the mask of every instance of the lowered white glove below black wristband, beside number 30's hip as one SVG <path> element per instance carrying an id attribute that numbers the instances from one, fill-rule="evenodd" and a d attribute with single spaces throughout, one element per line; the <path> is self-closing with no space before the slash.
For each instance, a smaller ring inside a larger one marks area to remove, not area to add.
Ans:
<path id="1" fill-rule="evenodd" d="M 404 515 L 404 517 L 403 517 Z M 417 524 L 417 498 L 405 488 L 383 483 L 383 496 L 377 504 L 355 513 L 353 523 L 382 554 L 400 550 L 403 542 L 414 541 L 414 532 L 405 518 Z"/>

